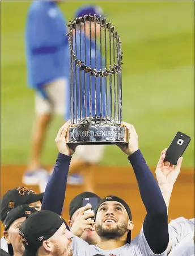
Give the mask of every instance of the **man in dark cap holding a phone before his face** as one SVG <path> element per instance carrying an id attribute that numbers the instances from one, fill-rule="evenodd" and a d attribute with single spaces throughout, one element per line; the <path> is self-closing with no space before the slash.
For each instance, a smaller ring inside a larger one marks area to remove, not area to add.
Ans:
<path id="1" fill-rule="evenodd" d="M 70 231 L 82 240 L 88 242 L 89 245 L 96 245 L 98 242 L 98 235 L 95 230 L 92 230 L 92 224 L 94 220 L 94 210 L 91 210 L 92 205 L 86 205 L 83 207 L 84 198 L 96 198 L 97 202 L 101 201 L 101 198 L 95 193 L 83 192 L 75 196 L 70 202 L 69 208 L 69 227 Z M 98 206 L 98 205 L 96 205 Z"/>

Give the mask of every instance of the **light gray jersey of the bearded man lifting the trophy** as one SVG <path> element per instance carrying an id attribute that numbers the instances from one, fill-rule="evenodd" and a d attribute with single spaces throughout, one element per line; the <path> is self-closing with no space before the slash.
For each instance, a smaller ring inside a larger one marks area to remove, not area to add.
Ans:
<path id="1" fill-rule="evenodd" d="M 146 241 L 143 233 L 143 228 L 139 236 L 135 237 L 134 240 L 129 244 L 119 247 L 113 250 L 102 250 L 98 246 L 88 245 L 87 242 L 83 241 L 78 237 L 73 237 L 73 256 L 93 256 L 95 254 L 101 254 L 105 256 L 155 256 Z M 159 256 L 166 256 L 167 250 Z"/>

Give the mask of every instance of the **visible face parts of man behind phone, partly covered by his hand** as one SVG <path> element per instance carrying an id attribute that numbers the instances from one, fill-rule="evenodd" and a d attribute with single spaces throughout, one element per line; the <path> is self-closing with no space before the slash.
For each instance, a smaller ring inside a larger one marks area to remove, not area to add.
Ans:
<path id="1" fill-rule="evenodd" d="M 77 216 L 79 214 L 80 208 L 76 210 L 76 212 L 71 217 L 71 220 L 69 221 L 70 228 L 73 226 L 73 223 L 77 219 Z M 82 236 L 80 236 L 82 240 L 88 242 L 89 245 L 96 245 L 98 243 L 98 234 L 96 233 L 96 230 L 92 231 L 90 229 L 84 230 Z"/>

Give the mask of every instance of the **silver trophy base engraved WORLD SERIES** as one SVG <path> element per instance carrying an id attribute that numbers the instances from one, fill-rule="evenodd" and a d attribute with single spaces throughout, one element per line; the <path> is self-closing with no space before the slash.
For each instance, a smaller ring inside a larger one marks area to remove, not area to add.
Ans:
<path id="1" fill-rule="evenodd" d="M 79 126 L 69 128 L 67 144 L 115 144 L 128 143 L 125 127 L 121 126 Z"/>

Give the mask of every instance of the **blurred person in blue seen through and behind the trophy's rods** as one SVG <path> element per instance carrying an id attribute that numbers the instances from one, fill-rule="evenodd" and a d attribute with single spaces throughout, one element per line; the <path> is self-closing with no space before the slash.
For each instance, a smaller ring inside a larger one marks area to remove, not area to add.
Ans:
<path id="1" fill-rule="evenodd" d="M 103 11 L 99 6 L 96 5 L 84 5 L 79 7 L 79 9 L 75 12 L 74 18 L 83 17 L 84 15 L 93 16 L 96 14 L 96 18 L 101 15 L 101 18 L 104 18 Z M 86 22 L 86 51 L 84 47 L 84 24 L 81 26 L 81 34 L 79 32 L 79 25 L 76 28 L 76 40 L 77 47 L 75 46 L 75 36 L 73 35 L 73 51 L 77 56 L 78 60 L 83 61 L 82 65 L 86 65 L 87 67 L 91 67 L 96 69 L 97 71 L 104 71 L 105 61 L 104 58 L 100 59 L 100 27 L 96 26 L 96 59 L 95 59 L 95 26 L 94 22 L 91 22 L 91 61 L 90 61 L 90 23 Z M 103 31 L 104 32 L 104 31 Z M 103 33 L 102 32 L 102 33 Z M 80 38 L 81 36 L 81 38 Z M 80 44 L 81 42 L 81 44 Z M 104 42 L 103 42 L 104 44 Z M 80 51 L 81 48 L 81 51 Z M 104 54 L 102 53 L 104 56 Z M 82 84 L 82 93 L 81 93 L 81 102 L 80 102 L 80 78 L 79 78 L 79 66 L 77 68 L 77 81 L 75 82 L 75 87 L 77 86 L 77 99 L 78 106 L 82 106 L 82 112 L 80 115 L 80 107 L 78 108 L 78 112 L 76 113 L 74 110 L 74 122 L 78 122 L 77 120 L 80 118 L 90 117 L 90 105 L 91 105 L 91 117 L 103 117 L 105 118 L 105 80 L 102 80 L 100 83 L 100 77 L 96 78 L 96 97 L 95 97 L 95 76 L 91 76 L 91 101 L 90 101 L 90 73 L 86 73 L 86 102 L 84 98 L 84 71 L 81 74 L 81 84 Z M 100 100 L 100 91 L 101 91 L 101 100 Z M 73 94 L 73 93 L 72 93 Z M 74 89 L 74 108 L 76 105 L 75 100 L 76 90 Z M 96 101 L 95 101 L 96 98 Z M 84 106 L 86 104 L 86 111 L 84 111 Z M 102 108 L 101 108 L 102 104 Z M 96 113 L 95 113 L 95 105 L 96 105 Z M 109 104 L 108 104 L 109 105 Z M 77 120 L 76 120 L 77 118 Z M 66 118 L 68 119 L 68 118 Z M 70 166 L 70 176 L 68 178 L 69 184 L 80 184 L 84 183 L 84 191 L 94 191 L 94 164 L 100 162 L 103 158 L 104 154 L 104 146 L 102 145 L 82 145 L 78 146 L 74 158 L 71 161 Z M 78 173 L 84 172 L 85 174 L 82 176 L 78 175 Z M 84 178 L 84 181 L 83 181 Z"/>

